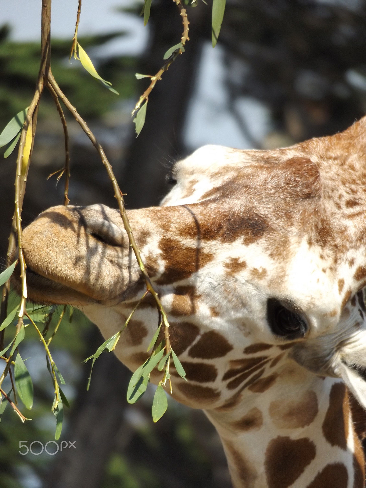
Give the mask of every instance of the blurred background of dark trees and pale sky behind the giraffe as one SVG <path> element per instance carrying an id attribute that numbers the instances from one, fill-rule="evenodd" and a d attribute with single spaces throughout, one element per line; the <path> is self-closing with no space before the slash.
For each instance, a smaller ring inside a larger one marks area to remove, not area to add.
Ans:
<path id="1" fill-rule="evenodd" d="M 89 1 L 82 6 L 80 41 L 120 97 L 79 65 L 68 65 L 72 34 L 67 40 L 63 35 L 53 38 L 52 68 L 102 143 L 127 193 L 127 208 L 158 204 L 169 189 L 166 175 L 171 163 L 204 143 L 281 147 L 343 130 L 366 112 L 365 0 L 227 0 L 215 49 L 210 45 L 211 9 L 200 1 L 197 8 L 188 9 L 186 51 L 149 97 L 146 122 L 136 139 L 129 112 L 147 81 L 137 81 L 134 73 L 158 71 L 163 53 L 180 39 L 180 17 L 173 2 L 153 0 L 143 49 L 136 54 L 130 47 L 130 53 L 121 53 L 115 47 L 122 39 L 122 22 L 120 29 L 118 21 L 113 22 L 111 32 L 96 33 L 93 24 L 83 29 L 83 15 L 93 10 L 94 2 Z M 137 19 L 142 7 L 126 7 L 117 0 L 105 3 L 105 8 L 113 4 L 128 10 L 129 19 Z M 75 10 L 74 16 L 77 1 L 66 8 Z M 122 19 L 121 11 L 115 16 Z M 70 27 L 72 32 L 74 21 Z M 134 23 L 133 29 L 143 36 L 141 23 Z M 7 25 L 0 29 L 0 129 L 29 103 L 39 67 L 39 42 L 17 41 L 11 32 Z M 62 127 L 52 103 L 47 98 L 41 103 L 24 224 L 49 205 L 62 203 L 62 181 L 55 189 L 55 178 L 46 180 L 63 166 Z M 70 121 L 69 131 L 71 203 L 115 206 L 97 154 L 75 122 Z M 14 172 L 14 155 L 0 162 L 1 256 L 13 213 Z M 71 324 L 64 321 L 54 347 L 73 401 L 62 437 L 76 440 L 77 448 L 54 457 L 22 456 L 20 440 L 47 442 L 54 428 L 50 384 L 40 372 L 44 358 L 35 338 L 29 339 L 25 357 L 31 357 L 37 401 L 28 416 L 34 420 L 22 426 L 10 409 L 5 411 L 0 423 L 0 486 L 230 487 L 222 447 L 200 411 L 172 401 L 153 425 L 152 396 L 145 395 L 135 406 L 126 403 L 130 373 L 112 354 L 98 359 L 86 392 L 89 366 L 81 366 L 81 361 L 101 342 L 99 332 L 81 316 Z"/>

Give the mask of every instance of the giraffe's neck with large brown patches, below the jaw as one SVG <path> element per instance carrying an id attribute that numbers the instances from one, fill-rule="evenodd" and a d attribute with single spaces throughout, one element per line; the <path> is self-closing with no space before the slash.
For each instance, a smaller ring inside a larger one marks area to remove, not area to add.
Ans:
<path id="1" fill-rule="evenodd" d="M 339 379 L 290 360 L 270 389 L 236 400 L 205 412 L 235 488 L 364 487 L 364 454 Z"/>

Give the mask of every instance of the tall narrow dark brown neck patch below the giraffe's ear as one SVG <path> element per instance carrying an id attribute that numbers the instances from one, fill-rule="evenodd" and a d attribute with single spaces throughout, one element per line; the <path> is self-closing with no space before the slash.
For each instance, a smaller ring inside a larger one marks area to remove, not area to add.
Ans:
<path id="1" fill-rule="evenodd" d="M 349 403 L 346 386 L 335 383 L 329 394 L 329 407 L 323 422 L 323 434 L 331 446 L 347 447 Z"/>

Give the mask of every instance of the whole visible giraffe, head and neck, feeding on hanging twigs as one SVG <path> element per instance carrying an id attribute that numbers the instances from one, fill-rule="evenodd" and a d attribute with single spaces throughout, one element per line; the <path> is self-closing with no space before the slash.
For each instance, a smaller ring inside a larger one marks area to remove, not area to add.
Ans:
<path id="1" fill-rule="evenodd" d="M 187 373 L 173 397 L 216 427 L 236 488 L 365 487 L 366 117 L 276 150 L 204 146 L 172 178 L 128 218 Z M 23 251 L 30 299 L 79 307 L 105 338 L 143 294 L 102 204 L 44 211 Z M 132 371 L 157 320 L 147 296 L 115 350 Z"/>

